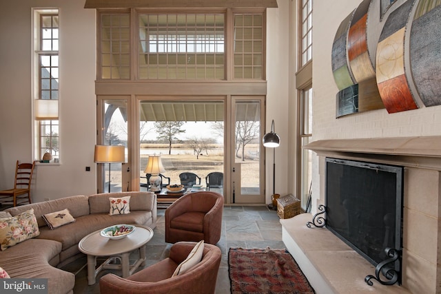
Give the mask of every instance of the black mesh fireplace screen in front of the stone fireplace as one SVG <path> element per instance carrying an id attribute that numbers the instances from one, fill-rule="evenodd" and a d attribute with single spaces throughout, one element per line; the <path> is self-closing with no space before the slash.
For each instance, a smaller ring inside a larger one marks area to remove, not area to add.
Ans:
<path id="1" fill-rule="evenodd" d="M 402 167 L 326 158 L 327 228 L 374 266 L 402 247 L 402 180 Z"/>

